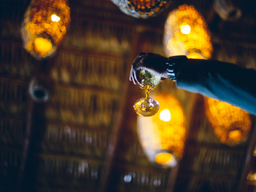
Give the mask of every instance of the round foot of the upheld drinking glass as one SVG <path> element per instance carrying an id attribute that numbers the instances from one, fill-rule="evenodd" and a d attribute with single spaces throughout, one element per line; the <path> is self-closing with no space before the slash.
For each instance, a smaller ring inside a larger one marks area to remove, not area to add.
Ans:
<path id="1" fill-rule="evenodd" d="M 134 111 L 141 116 L 152 116 L 159 110 L 159 103 L 155 99 L 141 98 L 134 104 Z"/>

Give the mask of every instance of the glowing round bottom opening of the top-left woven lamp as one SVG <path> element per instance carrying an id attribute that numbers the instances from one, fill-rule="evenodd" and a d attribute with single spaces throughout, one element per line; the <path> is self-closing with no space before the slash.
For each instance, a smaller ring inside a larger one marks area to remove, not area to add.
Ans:
<path id="1" fill-rule="evenodd" d="M 34 41 L 34 49 L 40 55 L 46 55 L 52 49 L 51 40 L 36 38 Z"/>

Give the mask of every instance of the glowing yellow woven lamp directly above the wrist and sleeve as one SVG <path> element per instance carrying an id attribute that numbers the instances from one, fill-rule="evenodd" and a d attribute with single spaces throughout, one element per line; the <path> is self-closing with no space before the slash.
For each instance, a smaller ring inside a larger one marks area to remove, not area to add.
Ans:
<path id="1" fill-rule="evenodd" d="M 207 59 L 212 55 L 209 30 L 204 17 L 186 4 L 169 13 L 163 38 L 166 55 Z"/>

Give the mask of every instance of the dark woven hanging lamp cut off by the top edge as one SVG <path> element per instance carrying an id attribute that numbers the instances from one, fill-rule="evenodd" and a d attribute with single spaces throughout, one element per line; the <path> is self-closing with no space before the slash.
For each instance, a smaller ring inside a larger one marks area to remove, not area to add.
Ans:
<path id="1" fill-rule="evenodd" d="M 111 0 L 126 15 L 136 18 L 156 16 L 167 8 L 171 0 Z"/>

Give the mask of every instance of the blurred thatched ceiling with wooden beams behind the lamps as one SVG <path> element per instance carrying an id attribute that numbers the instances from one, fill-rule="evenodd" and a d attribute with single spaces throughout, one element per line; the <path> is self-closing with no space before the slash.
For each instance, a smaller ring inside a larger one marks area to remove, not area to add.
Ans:
<path id="1" fill-rule="evenodd" d="M 143 92 L 128 80 L 139 52 L 165 54 L 164 21 L 183 3 L 204 15 L 212 58 L 256 69 L 255 2 L 233 0 L 243 14 L 227 22 L 215 13 L 213 0 L 174 0 L 147 20 L 123 14 L 110 0 L 70 0 L 70 29 L 57 54 L 45 61 L 23 49 L 20 23 L 29 3 L 0 2 L 0 191 L 255 190 L 256 183 L 247 180 L 256 168 L 254 116 L 246 142 L 221 144 L 205 116 L 203 97 L 161 82 L 155 92 L 179 99 L 188 132 L 180 165 L 161 169 L 140 147 L 132 106 Z M 51 90 L 49 102 L 30 98 L 32 78 Z M 125 175 L 132 176 L 131 182 Z"/>

